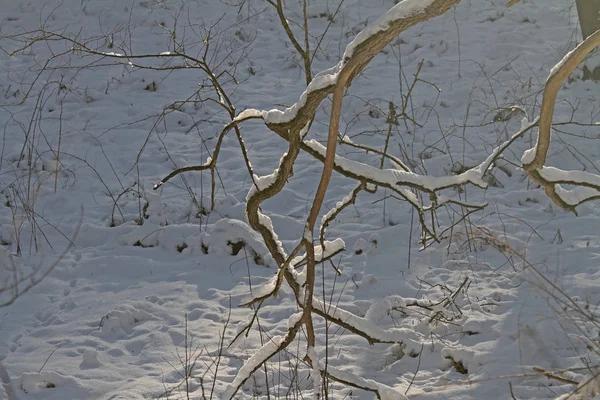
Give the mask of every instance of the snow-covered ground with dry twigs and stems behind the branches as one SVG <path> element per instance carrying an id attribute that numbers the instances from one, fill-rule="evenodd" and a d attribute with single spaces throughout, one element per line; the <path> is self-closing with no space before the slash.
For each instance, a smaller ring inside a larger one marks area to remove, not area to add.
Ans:
<path id="1" fill-rule="evenodd" d="M 285 3 L 304 44 L 301 2 Z M 335 66 L 394 3 L 310 1 L 313 73 Z M 390 153 L 419 174 L 446 176 L 483 162 L 533 121 L 551 68 L 580 40 L 577 13 L 571 0 L 505 3 L 463 0 L 403 32 L 348 90 L 345 138 L 383 149 L 391 128 Z M 214 210 L 208 171 L 153 186 L 175 168 L 207 162 L 229 116 L 206 100 L 216 97 L 202 86 L 203 71 L 160 70 L 181 59 L 137 60 L 154 69 L 108 65 L 119 60 L 34 30 L 100 52 L 202 57 L 208 43 L 209 64 L 238 112 L 271 110 L 296 103 L 306 88 L 277 13 L 267 0 L 2 0 L 0 10 L 0 283 L 14 278 L 13 266 L 38 269 L 36 277 L 53 267 L 0 308 L 0 399 L 223 398 L 245 361 L 285 334 L 296 302 L 284 286 L 229 346 L 253 316 L 238 305 L 276 273 L 260 235 L 241 222 L 252 179 L 234 132 L 218 158 Z M 20 42 L 31 35 L 40 41 Z M 559 93 L 549 164 L 600 173 L 600 85 L 581 75 Z M 325 144 L 323 104 L 309 139 Z M 390 120 L 390 108 L 401 114 L 403 104 L 405 116 Z M 527 179 L 519 165 L 533 132 L 504 153 L 487 190 L 444 191 L 487 207 L 468 223 L 459 207 L 441 208 L 440 231 L 457 222 L 441 243 L 419 251 L 416 215 L 381 188 L 362 192 L 334 220 L 327 239 L 346 244 L 332 260 L 342 274 L 319 267 L 317 298 L 406 340 L 371 346 L 317 319 L 316 356 L 411 399 L 554 399 L 575 389 L 557 377 L 582 382 L 595 373 L 600 208 L 582 205 L 576 217 Z M 272 173 L 287 143 L 262 122 L 245 122 L 241 134 L 255 173 Z M 338 154 L 379 168 L 378 154 L 349 145 Z M 288 251 L 302 238 L 321 170 L 301 153 L 284 190 L 263 204 Z M 322 214 L 355 185 L 334 173 Z M 0 304 L 12 294 L 0 292 Z M 565 295 L 582 313 L 553 299 Z M 299 340 L 235 398 L 312 396 Z M 336 383 L 329 397 L 373 394 Z"/>

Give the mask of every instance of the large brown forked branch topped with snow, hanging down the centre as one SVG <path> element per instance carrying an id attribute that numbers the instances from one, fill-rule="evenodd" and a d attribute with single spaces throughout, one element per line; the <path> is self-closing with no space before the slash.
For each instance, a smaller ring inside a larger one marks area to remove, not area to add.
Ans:
<path id="1" fill-rule="evenodd" d="M 321 234 L 321 245 L 315 246 L 312 240 L 312 231 L 333 170 L 357 180 L 360 186 L 362 186 L 361 190 L 373 191 L 375 186 L 389 187 L 418 207 L 419 211 L 422 209 L 419 206 L 417 196 L 411 193 L 408 188 L 433 194 L 435 191 L 464 183 L 473 183 L 480 187 L 486 187 L 486 183 L 483 181 L 483 174 L 487 170 L 485 166 L 479 169 L 471 169 L 459 176 L 435 178 L 421 176 L 400 169 L 375 169 L 335 154 L 344 89 L 352 83 L 353 79 L 364 70 L 367 64 L 398 34 L 419 22 L 443 14 L 459 2 L 460 0 L 404 0 L 400 2 L 374 24 L 371 24 L 362 31 L 348 45 L 342 60 L 337 65 L 317 74 L 309 83 L 305 92 L 300 96 L 298 102 L 292 107 L 283 111 L 249 109 L 243 111 L 237 117 L 232 116 L 231 126 L 236 129 L 238 123 L 243 120 L 251 118 L 263 119 L 269 129 L 289 143 L 287 152 L 281 157 L 279 166 L 273 173 L 263 177 L 251 174 L 254 184 L 246 198 L 246 217 L 252 229 L 259 232 L 263 237 L 269 252 L 279 266 L 279 270 L 267 285 L 253 293 L 254 298 L 247 304 L 252 304 L 256 301 L 262 302 L 267 296 L 275 295 L 285 280 L 292 289 L 302 312 L 300 316 L 298 316 L 299 314 L 294 314 L 290 317 L 285 337 L 272 339 L 244 363 L 226 390 L 226 399 L 235 396 L 244 382 L 261 365 L 289 346 L 301 328 L 304 329 L 306 334 L 307 347 L 314 349 L 315 331 L 312 321 L 313 315 L 318 315 L 328 322 L 337 324 L 349 332 L 365 338 L 369 343 L 403 343 L 405 346 L 406 343 L 410 343 L 413 346 L 417 342 L 416 334 L 410 330 L 380 329 L 365 318 L 338 307 L 326 305 L 313 296 L 315 263 L 322 262 L 342 251 L 344 242 L 341 239 L 326 242 Z M 304 134 L 310 126 L 310 122 L 314 119 L 316 110 L 330 94 L 333 94 L 333 99 L 327 147 L 322 146 L 316 141 L 304 141 Z M 220 137 L 223 137 L 224 134 L 222 133 Z M 290 255 L 287 255 L 273 229 L 270 218 L 262 213 L 260 206 L 264 201 L 277 195 L 283 189 L 288 178 L 291 176 L 293 165 L 300 150 L 308 152 L 323 162 L 324 168 L 317 194 L 314 196 L 313 206 L 307 218 L 305 234 L 302 237 L 300 245 Z M 398 164 L 401 166 L 401 163 Z M 489 164 L 491 165 L 491 162 Z M 204 168 L 207 168 L 207 166 L 204 166 Z M 408 170 L 408 168 L 406 169 Z M 331 218 L 340 209 L 350 204 L 357 193 L 358 190 L 353 192 L 349 198 L 342 200 L 341 204 L 336 206 L 336 211 L 326 215 L 325 219 L 322 220 L 323 224 L 325 225 L 328 218 Z M 321 233 L 323 232 L 324 228 L 322 228 Z M 305 254 L 296 256 L 301 248 L 306 250 Z M 306 263 L 306 267 L 302 272 L 298 272 L 297 267 L 303 262 Z M 321 370 L 317 366 L 316 371 Z M 357 378 L 343 371 L 336 371 L 332 376 L 336 380 L 345 382 L 350 386 L 372 391 L 376 393 L 379 399 L 391 400 L 404 398 L 403 395 L 388 386 Z"/>

